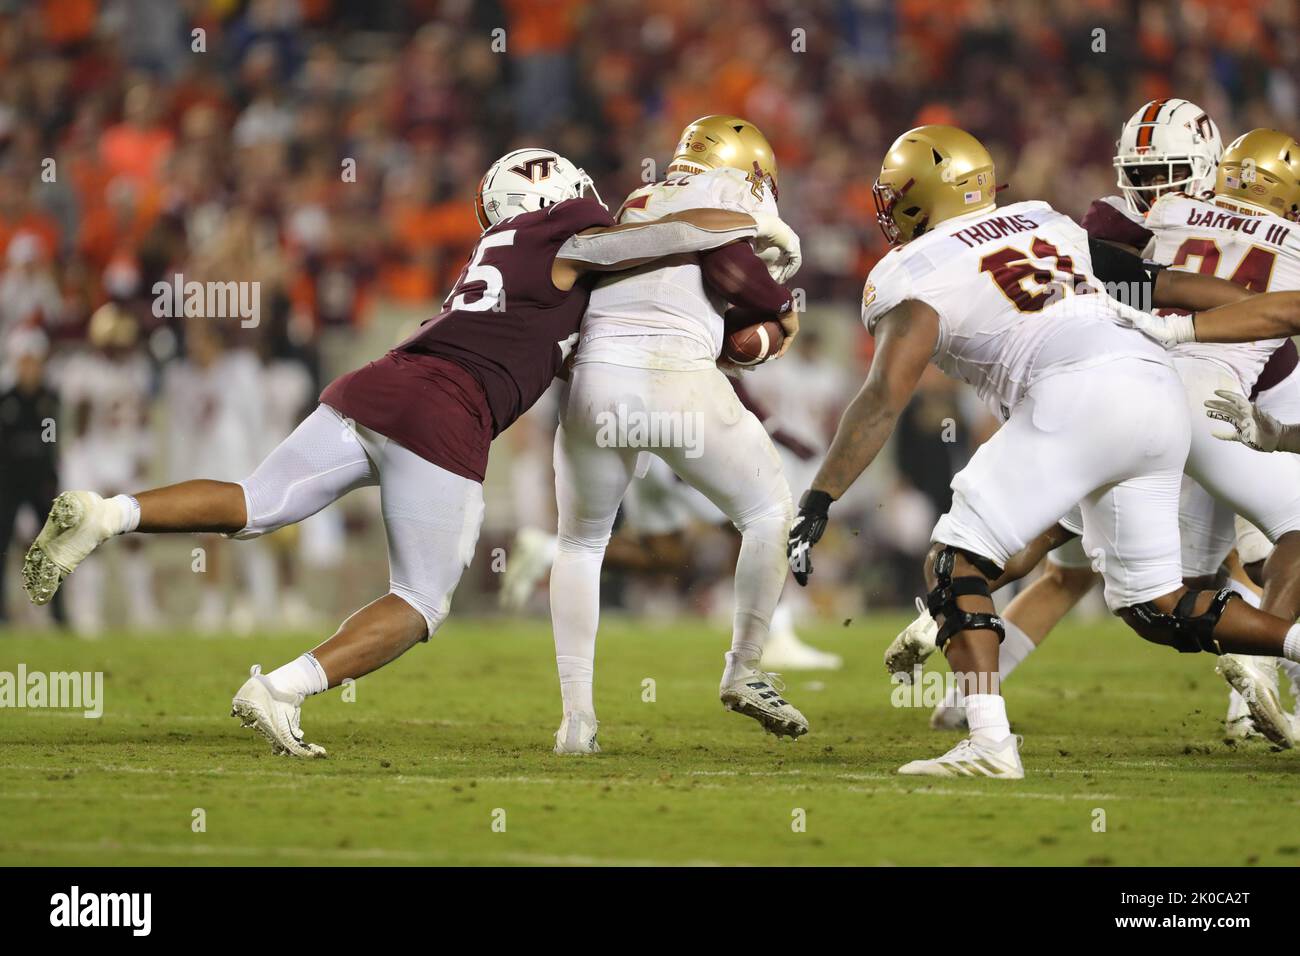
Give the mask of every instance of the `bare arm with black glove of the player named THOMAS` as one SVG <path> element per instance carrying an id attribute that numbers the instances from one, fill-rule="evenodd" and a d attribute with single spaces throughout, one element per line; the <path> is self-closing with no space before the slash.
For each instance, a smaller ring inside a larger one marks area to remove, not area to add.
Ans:
<path id="1" fill-rule="evenodd" d="M 831 450 L 812 486 L 800 498 L 800 512 L 790 527 L 786 558 L 800 584 L 807 584 L 812 574 L 812 545 L 826 531 L 831 502 L 875 460 L 911 401 L 937 342 L 939 313 L 923 302 L 901 302 L 876 323 L 876 354 L 867 380 L 844 410 Z"/>

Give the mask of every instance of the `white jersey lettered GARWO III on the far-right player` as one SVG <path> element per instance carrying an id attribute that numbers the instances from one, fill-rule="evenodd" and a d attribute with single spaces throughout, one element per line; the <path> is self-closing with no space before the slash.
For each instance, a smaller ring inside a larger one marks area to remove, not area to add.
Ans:
<path id="1" fill-rule="evenodd" d="M 1147 216 L 1156 234 L 1154 260 L 1180 272 L 1227 278 L 1256 293 L 1300 289 L 1300 224 L 1270 213 L 1243 213 L 1213 200 L 1162 195 Z M 1190 342 L 1176 355 L 1197 355 L 1226 367 L 1251 394 L 1254 380 L 1286 339 L 1240 345 Z"/>

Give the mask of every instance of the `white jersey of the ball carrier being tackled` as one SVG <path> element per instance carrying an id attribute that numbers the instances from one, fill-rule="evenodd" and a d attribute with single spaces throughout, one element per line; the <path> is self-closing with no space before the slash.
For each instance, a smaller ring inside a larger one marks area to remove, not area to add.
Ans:
<path id="1" fill-rule="evenodd" d="M 740 169 L 675 172 L 627 198 L 620 222 L 645 222 L 684 209 L 776 215 L 766 179 Z M 727 302 L 710 290 L 694 255 L 602 278 L 582 319 L 576 362 L 636 368 L 712 368 L 723 347 Z"/>

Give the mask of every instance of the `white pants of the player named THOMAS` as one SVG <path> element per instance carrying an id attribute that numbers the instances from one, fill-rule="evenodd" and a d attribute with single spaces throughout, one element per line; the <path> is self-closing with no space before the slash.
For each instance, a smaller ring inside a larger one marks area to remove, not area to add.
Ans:
<path id="1" fill-rule="evenodd" d="M 932 540 L 1005 566 L 1078 502 L 1083 550 L 1112 610 L 1176 591 L 1187 419 L 1162 362 L 1122 358 L 1040 378 L 953 479 L 953 507 Z"/>

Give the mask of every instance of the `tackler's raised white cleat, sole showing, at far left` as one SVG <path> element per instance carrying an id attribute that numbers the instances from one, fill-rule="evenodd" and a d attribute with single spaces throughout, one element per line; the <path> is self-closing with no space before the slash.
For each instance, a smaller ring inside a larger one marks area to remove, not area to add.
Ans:
<path id="1" fill-rule="evenodd" d="M 94 492 L 64 492 L 22 562 L 22 588 L 32 604 L 49 604 L 58 585 L 117 533 L 121 514 Z"/>

